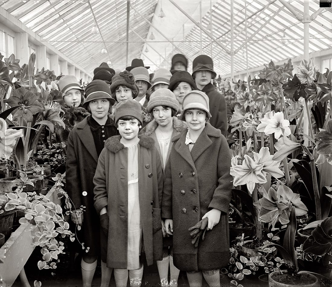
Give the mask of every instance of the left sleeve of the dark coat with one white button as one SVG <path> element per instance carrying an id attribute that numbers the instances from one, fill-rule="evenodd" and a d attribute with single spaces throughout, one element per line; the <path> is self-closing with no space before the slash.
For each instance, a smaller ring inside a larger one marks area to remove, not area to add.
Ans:
<path id="1" fill-rule="evenodd" d="M 81 198 L 81 176 L 77 155 L 77 144 L 74 143 L 74 131 L 68 136 L 67 158 L 66 158 L 66 191 L 74 205 L 74 209 L 79 209 L 82 205 Z"/>

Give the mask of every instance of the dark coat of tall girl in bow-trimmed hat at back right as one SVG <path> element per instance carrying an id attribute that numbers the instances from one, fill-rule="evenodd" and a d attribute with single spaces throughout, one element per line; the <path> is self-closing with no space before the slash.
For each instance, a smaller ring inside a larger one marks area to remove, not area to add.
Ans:
<path id="1" fill-rule="evenodd" d="M 209 107 L 211 118 L 210 124 L 219 129 L 221 133 L 227 135 L 227 105 L 223 94 L 219 93 L 214 85 L 208 83 L 202 90 L 205 92 L 209 99 Z"/>

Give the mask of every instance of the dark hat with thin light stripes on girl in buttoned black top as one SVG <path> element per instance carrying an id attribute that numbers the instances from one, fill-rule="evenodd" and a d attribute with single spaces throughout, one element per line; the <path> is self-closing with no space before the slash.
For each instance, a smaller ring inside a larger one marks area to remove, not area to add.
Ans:
<path id="1" fill-rule="evenodd" d="M 111 96 L 111 90 L 103 80 L 92 80 L 85 87 L 85 103 L 83 107 L 87 110 L 90 101 L 96 99 L 108 99 L 114 105 L 115 99 Z"/>

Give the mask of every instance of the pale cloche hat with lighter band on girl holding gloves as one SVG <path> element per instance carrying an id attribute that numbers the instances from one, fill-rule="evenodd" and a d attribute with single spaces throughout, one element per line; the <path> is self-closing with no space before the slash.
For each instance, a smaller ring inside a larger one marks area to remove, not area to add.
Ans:
<path id="1" fill-rule="evenodd" d="M 194 90 L 190 91 L 183 97 L 182 100 L 183 110 L 181 111 L 181 120 L 185 120 L 185 110 L 188 109 L 201 109 L 207 112 L 208 119 L 211 117 L 209 108 L 209 99 L 206 93 Z"/>

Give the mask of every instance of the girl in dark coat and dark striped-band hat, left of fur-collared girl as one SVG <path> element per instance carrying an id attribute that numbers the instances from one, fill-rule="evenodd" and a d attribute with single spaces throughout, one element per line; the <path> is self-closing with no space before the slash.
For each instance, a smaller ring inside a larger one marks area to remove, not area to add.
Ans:
<path id="1" fill-rule="evenodd" d="M 72 220 L 82 226 L 80 242 L 84 242 L 81 270 L 83 286 L 92 284 L 97 266 L 97 257 L 102 255 L 101 286 L 108 286 L 112 269 L 106 267 L 105 252 L 101 252 L 100 227 L 96 222 L 99 215 L 93 206 L 93 176 L 97 167 L 98 156 L 104 148 L 107 138 L 116 135 L 113 120 L 108 116 L 115 100 L 111 97 L 111 90 L 102 80 L 91 81 L 85 90 L 86 101 L 84 107 L 91 112 L 69 133 L 66 160 L 66 190 L 72 199 L 75 209 L 85 206 L 84 213 L 72 216 Z M 87 249 L 89 247 L 89 249 Z M 102 244 L 103 247 L 103 244 Z"/>

